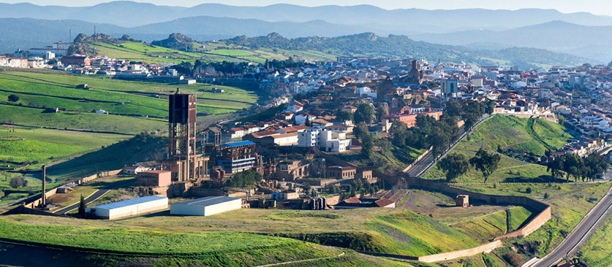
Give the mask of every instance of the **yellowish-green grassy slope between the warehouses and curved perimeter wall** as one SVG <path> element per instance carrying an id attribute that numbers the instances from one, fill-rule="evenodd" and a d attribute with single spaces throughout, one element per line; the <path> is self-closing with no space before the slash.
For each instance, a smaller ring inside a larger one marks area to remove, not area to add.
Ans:
<path id="1" fill-rule="evenodd" d="M 497 216 L 497 215 L 492 215 Z M 505 215 L 502 213 L 501 216 Z M 497 222 L 472 217 L 474 229 L 486 228 Z M 23 223 L 39 224 L 40 219 L 16 216 Z M 44 218 L 45 224 L 78 225 L 80 220 Z M 465 221 L 471 221 L 465 218 Z M 102 221 L 88 221 L 92 226 L 103 226 Z M 487 242 L 491 236 L 481 233 L 471 237 L 468 230 L 447 225 L 426 215 L 403 209 L 368 208 L 309 212 L 300 210 L 261 210 L 244 208 L 206 218 L 155 216 L 114 222 L 117 226 L 149 229 L 160 232 L 200 233 L 202 231 L 247 232 L 278 235 L 329 246 L 348 247 L 362 251 L 376 251 L 404 255 L 427 255 L 467 249 Z M 496 224 L 497 225 L 497 224 Z M 506 220 L 497 227 L 503 229 Z"/>

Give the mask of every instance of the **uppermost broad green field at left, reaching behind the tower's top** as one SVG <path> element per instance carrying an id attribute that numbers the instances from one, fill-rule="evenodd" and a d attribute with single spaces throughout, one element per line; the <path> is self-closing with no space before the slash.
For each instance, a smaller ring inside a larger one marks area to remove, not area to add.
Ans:
<path id="1" fill-rule="evenodd" d="M 165 95 L 173 93 L 178 87 L 170 84 L 62 74 L 65 73 L 1 73 L 0 99 L 7 99 L 10 94 L 16 94 L 20 97 L 20 101 L 15 104 L 28 107 L 59 107 L 79 112 L 103 109 L 116 115 L 165 118 L 168 113 L 168 102 Z M 79 84 L 88 84 L 93 89 L 78 89 L 76 85 Z M 188 87 L 187 91 L 197 94 L 198 97 L 201 95 L 198 99 L 198 112 L 210 114 L 234 112 L 250 107 L 257 100 L 255 95 L 236 88 L 230 90 L 227 96 L 204 92 L 210 91 L 211 86 L 190 85 Z"/>

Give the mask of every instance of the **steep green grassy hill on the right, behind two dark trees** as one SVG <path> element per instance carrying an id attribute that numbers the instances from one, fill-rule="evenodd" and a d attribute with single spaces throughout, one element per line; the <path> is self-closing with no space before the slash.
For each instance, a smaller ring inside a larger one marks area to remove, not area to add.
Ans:
<path id="1" fill-rule="evenodd" d="M 558 149 L 569 138 L 571 136 L 563 132 L 562 126 L 550 121 L 495 115 L 476 127 L 451 153 L 471 158 L 480 148 L 494 152 L 500 145 L 505 150 L 543 155 L 547 148 Z M 431 168 L 423 178 L 446 179 L 438 166 Z M 489 177 L 490 182 L 549 182 L 551 179 L 546 166 L 523 162 L 507 155 L 501 155 L 497 171 Z M 483 182 L 482 173 L 470 168 L 455 182 Z"/>

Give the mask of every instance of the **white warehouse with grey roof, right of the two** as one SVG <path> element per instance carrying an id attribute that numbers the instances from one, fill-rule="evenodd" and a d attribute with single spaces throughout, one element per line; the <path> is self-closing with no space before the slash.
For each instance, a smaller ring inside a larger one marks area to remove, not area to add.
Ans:
<path id="1" fill-rule="evenodd" d="M 209 196 L 170 205 L 171 215 L 211 216 L 242 208 L 242 199 L 229 196 Z"/>

